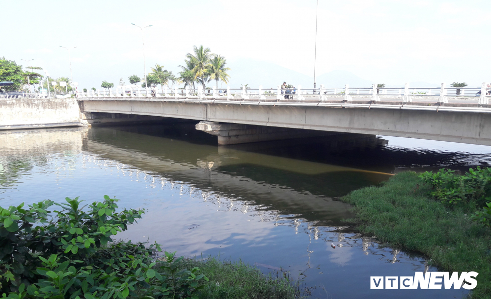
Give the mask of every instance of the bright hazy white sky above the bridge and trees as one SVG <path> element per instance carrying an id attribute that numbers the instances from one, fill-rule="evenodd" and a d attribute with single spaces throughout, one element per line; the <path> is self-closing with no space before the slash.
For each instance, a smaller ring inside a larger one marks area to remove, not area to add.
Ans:
<path id="1" fill-rule="evenodd" d="M 156 63 L 177 73 L 186 53 L 203 45 L 227 59 L 232 86 L 257 78 L 268 86 L 285 68 L 298 74 L 293 81 L 314 76 L 316 0 L 17 0 L 3 1 L 2 11 L 10 33 L 0 56 L 70 77 L 59 46 L 77 47 L 70 54 L 79 88 L 143 76 L 142 31 L 132 23 L 152 25 L 143 30 L 147 73 Z M 484 0 L 319 0 L 315 72 L 477 87 L 491 81 L 490 25 Z M 261 63 L 271 68 L 267 78 L 249 77 Z"/>

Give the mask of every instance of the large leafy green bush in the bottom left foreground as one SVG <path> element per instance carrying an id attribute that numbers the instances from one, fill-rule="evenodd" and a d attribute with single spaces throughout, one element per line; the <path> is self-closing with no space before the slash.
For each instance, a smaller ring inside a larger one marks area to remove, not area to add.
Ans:
<path id="1" fill-rule="evenodd" d="M 108 196 L 89 204 L 87 211 L 78 198 L 66 201 L 45 200 L 29 209 L 24 204 L 0 207 L 3 297 L 9 292 L 9 298 L 19 299 L 125 299 L 136 293 L 142 298 L 197 298 L 207 277 L 198 268 L 174 271 L 175 252 L 165 252 L 158 272 L 152 269 L 152 256 L 161 251 L 159 244 L 113 242 L 144 210 L 116 212 L 118 199 Z M 48 220 L 54 205 L 61 209 Z"/>

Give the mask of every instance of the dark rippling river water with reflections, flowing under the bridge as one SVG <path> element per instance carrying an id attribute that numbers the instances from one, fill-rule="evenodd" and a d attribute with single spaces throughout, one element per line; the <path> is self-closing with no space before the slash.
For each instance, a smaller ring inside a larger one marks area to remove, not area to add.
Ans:
<path id="1" fill-rule="evenodd" d="M 116 197 L 120 207 L 146 209 L 120 238 L 288 271 L 313 298 L 466 294 L 370 290 L 370 276 L 436 269 L 358 234 L 337 198 L 401 170 L 488 165 L 491 147 L 352 134 L 216 143 L 190 123 L 0 132 L 0 206 Z"/>

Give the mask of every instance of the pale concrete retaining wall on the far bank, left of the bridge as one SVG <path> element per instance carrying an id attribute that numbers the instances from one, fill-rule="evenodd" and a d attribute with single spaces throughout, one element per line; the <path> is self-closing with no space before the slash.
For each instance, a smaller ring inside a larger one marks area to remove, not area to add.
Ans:
<path id="1" fill-rule="evenodd" d="M 0 99 L 0 130 L 87 125 L 81 116 L 72 98 Z"/>

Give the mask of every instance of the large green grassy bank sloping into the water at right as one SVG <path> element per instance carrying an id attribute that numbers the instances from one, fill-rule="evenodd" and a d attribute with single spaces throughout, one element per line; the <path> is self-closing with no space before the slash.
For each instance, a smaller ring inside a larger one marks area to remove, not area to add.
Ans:
<path id="1" fill-rule="evenodd" d="M 472 298 L 491 298 L 491 231 L 473 224 L 471 204 L 446 208 L 430 198 L 431 186 L 414 172 L 396 174 L 381 186 L 341 198 L 354 205 L 360 232 L 390 246 L 415 250 L 441 271 L 479 273 Z"/>

